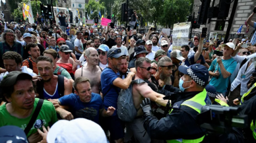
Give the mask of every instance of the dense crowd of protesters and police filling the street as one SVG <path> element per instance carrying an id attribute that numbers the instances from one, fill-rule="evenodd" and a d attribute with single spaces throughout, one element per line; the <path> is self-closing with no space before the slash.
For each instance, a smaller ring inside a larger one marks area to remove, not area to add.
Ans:
<path id="1" fill-rule="evenodd" d="M 256 44 L 194 36 L 173 49 L 151 28 L 60 19 L 1 27 L 0 141 L 255 142 Z M 196 122 L 205 105 L 239 107 L 251 129 L 210 138 Z"/>

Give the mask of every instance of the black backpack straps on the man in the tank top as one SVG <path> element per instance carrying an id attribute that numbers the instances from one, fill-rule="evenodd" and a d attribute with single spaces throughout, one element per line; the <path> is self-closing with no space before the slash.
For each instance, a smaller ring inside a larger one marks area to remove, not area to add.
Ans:
<path id="1" fill-rule="evenodd" d="M 57 75 L 58 76 L 58 92 L 59 92 L 59 97 L 61 98 L 62 96 L 64 96 L 64 76 L 62 75 Z M 44 82 L 41 81 L 37 81 L 36 82 L 36 92 L 39 94 L 39 98 L 40 99 L 44 99 Z"/>

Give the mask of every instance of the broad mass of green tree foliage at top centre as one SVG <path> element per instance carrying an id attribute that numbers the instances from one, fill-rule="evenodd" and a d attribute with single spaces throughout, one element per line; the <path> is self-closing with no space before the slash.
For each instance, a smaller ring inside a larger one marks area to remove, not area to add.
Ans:
<path id="1" fill-rule="evenodd" d="M 121 3 L 126 0 L 115 0 L 113 13 L 121 20 Z M 136 10 L 144 22 L 154 25 L 172 27 L 174 23 L 185 22 L 189 16 L 193 0 L 129 0 L 129 8 Z"/>

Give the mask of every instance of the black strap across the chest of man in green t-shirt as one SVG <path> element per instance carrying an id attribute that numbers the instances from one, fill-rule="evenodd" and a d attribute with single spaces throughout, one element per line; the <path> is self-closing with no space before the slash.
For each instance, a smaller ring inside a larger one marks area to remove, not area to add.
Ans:
<path id="1" fill-rule="evenodd" d="M 30 131 L 30 129 L 32 128 L 32 126 L 34 125 L 35 121 L 36 121 L 36 118 L 38 117 L 38 114 L 42 108 L 42 105 L 44 103 L 44 100 L 38 100 L 38 105 L 36 105 L 36 109 L 28 123 L 28 125 L 26 126 L 26 129 L 24 130 L 25 134 L 27 135 L 28 132 Z"/>

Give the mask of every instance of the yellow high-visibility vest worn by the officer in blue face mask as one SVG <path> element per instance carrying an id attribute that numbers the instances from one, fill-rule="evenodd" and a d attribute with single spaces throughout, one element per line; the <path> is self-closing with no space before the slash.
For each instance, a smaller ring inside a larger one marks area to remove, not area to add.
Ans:
<path id="1" fill-rule="evenodd" d="M 191 107 L 198 113 L 201 113 L 201 107 L 206 105 L 205 99 L 207 99 L 207 91 L 204 89 L 203 92 L 200 92 L 199 94 L 195 95 L 193 98 L 183 101 L 183 103 L 181 103 L 181 105 Z M 172 111 L 173 111 L 173 109 L 170 111 L 170 113 L 172 113 Z M 204 138 L 205 138 L 205 136 L 202 136 L 201 138 L 196 138 L 193 140 L 179 138 L 176 140 L 166 140 L 166 142 L 168 142 L 168 143 L 175 143 L 175 142 L 198 143 L 198 142 L 202 142 Z"/>

